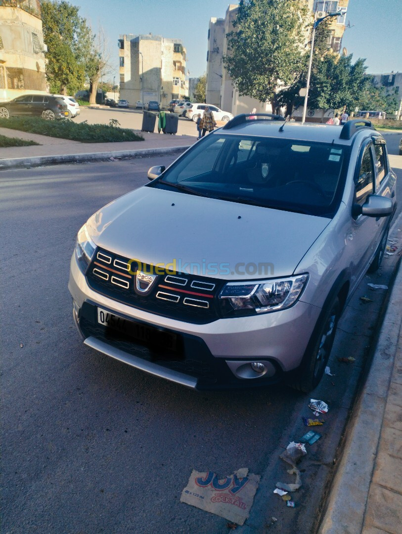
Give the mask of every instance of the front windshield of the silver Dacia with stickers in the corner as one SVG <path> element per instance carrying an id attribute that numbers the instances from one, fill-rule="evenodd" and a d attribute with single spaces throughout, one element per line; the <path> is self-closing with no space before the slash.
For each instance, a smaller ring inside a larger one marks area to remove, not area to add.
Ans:
<path id="1" fill-rule="evenodd" d="M 343 145 L 217 131 L 148 186 L 333 217 L 348 160 Z"/>

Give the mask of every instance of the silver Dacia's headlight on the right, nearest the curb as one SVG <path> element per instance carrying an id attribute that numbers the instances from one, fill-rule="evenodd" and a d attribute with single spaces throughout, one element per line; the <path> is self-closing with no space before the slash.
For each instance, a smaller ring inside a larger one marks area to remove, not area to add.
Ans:
<path id="1" fill-rule="evenodd" d="M 239 317 L 290 308 L 302 294 L 308 274 L 274 280 L 228 282 L 219 294 L 225 317 Z"/>

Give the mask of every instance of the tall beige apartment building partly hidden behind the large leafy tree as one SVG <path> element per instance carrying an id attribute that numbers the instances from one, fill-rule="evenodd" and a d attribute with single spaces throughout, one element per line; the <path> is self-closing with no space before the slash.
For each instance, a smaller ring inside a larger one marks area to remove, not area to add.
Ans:
<path id="1" fill-rule="evenodd" d="M 305 0 L 314 15 L 318 12 L 345 11 L 342 17 L 332 19 L 330 27 L 331 36 L 328 48 L 339 52 L 342 47 L 342 36 L 345 30 L 346 10 L 349 0 Z M 211 18 L 208 29 L 208 53 L 207 53 L 207 91 L 206 98 L 208 104 L 215 104 L 224 111 L 229 111 L 233 115 L 239 113 L 250 113 L 255 107 L 257 112 L 272 113 L 271 104 L 259 102 L 250 97 L 239 96 L 237 89 L 233 87 L 232 78 L 226 72 L 222 57 L 227 54 L 226 35 L 234 30 L 233 21 L 237 17 L 239 5 L 230 4 L 227 7 L 225 18 Z M 321 15 L 321 14 L 320 14 Z M 309 36 L 306 36 L 309 39 Z M 219 98 L 218 98 L 218 86 Z"/>

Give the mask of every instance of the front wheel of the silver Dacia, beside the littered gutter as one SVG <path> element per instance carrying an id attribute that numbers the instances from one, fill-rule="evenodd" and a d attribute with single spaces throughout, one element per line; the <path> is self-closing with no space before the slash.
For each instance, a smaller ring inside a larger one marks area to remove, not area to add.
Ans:
<path id="1" fill-rule="evenodd" d="M 289 386 L 305 393 L 318 386 L 334 344 L 336 327 L 341 317 L 341 312 L 342 306 L 338 297 L 330 301 L 326 308 L 322 310 L 304 354 L 302 364 L 292 373 L 288 381 Z"/>

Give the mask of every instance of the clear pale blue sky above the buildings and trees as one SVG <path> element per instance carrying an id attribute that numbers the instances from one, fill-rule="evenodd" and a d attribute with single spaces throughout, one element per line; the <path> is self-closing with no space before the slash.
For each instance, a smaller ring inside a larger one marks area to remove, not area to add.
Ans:
<path id="1" fill-rule="evenodd" d="M 120 34 L 153 33 L 183 40 L 190 76 L 206 70 L 208 23 L 224 17 L 227 0 L 68 0 L 96 30 L 105 29 L 114 72 L 119 72 L 117 39 Z M 233 2 L 235 3 L 235 2 Z M 368 72 L 402 71 L 402 0 L 349 0 L 343 46 L 356 60 L 366 58 Z"/>

